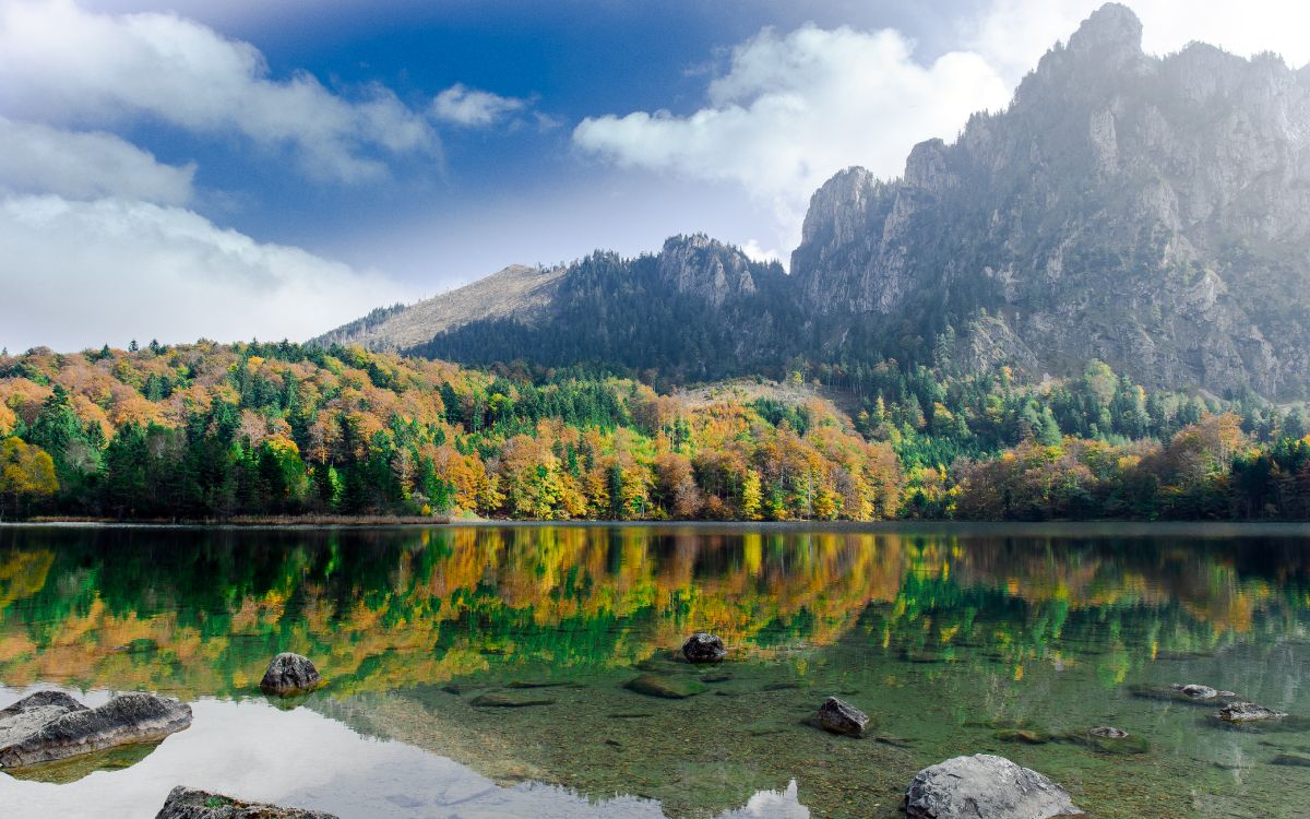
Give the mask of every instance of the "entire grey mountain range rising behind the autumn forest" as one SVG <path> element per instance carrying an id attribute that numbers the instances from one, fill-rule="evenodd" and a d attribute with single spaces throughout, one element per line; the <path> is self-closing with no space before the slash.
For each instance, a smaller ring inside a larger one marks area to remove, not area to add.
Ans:
<path id="1" fill-rule="evenodd" d="M 1151 56 L 1141 33 L 1108 4 L 1009 107 L 914 147 L 901 178 L 834 176 L 811 199 L 790 276 L 675 237 L 654 256 L 554 271 L 531 309 L 519 296 L 466 307 L 456 291 L 359 338 L 683 377 L 798 356 L 1039 377 L 1099 358 L 1149 387 L 1305 397 L 1310 67 L 1205 45 Z"/>

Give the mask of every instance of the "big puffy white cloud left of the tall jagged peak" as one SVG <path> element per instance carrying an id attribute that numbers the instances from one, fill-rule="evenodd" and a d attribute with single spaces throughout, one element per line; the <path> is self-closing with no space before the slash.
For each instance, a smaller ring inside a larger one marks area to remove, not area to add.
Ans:
<path id="1" fill-rule="evenodd" d="M 899 176 L 914 143 L 955 136 L 1009 93 L 981 56 L 921 66 L 893 30 L 765 29 L 734 48 L 705 107 L 584 119 L 574 142 L 621 166 L 736 182 L 773 206 L 778 240 L 794 246 L 810 195 L 833 173 L 863 165 Z"/>

